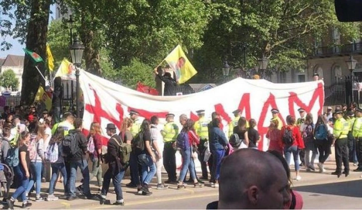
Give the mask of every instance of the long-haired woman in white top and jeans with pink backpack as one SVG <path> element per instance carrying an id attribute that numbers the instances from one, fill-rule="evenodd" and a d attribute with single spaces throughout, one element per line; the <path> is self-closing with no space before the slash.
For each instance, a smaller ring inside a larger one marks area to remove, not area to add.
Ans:
<path id="1" fill-rule="evenodd" d="M 28 147 L 29 156 L 30 156 L 30 171 L 31 171 L 31 180 L 29 181 L 29 185 L 26 189 L 26 197 L 30 192 L 31 188 L 34 185 L 35 181 L 35 191 L 36 197 L 35 201 L 44 201 L 44 199 L 40 196 L 40 188 L 41 188 L 41 166 L 44 162 L 44 138 L 45 138 L 45 124 L 37 124 L 34 130 L 34 134 L 31 134 L 31 140 Z M 32 142 L 35 141 L 35 144 Z M 33 146 L 33 148 L 31 148 Z M 35 150 L 35 155 L 32 157 L 32 150 Z"/>

